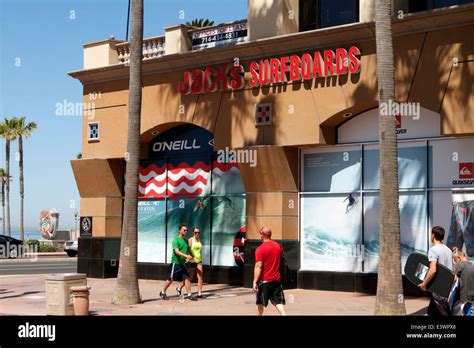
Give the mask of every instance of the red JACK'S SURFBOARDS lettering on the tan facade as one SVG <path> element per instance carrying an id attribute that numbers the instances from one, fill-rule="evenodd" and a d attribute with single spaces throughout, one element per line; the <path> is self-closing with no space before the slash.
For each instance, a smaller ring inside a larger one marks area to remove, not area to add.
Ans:
<path id="1" fill-rule="evenodd" d="M 252 88 L 301 79 L 356 74 L 359 71 L 360 50 L 352 46 L 348 50 L 337 48 L 334 51 L 252 61 L 249 65 L 251 78 L 247 83 L 244 79 L 245 69 L 238 64 L 185 71 L 183 81 L 178 82 L 178 91 L 181 94 L 211 93 L 244 88 L 246 84 Z"/>

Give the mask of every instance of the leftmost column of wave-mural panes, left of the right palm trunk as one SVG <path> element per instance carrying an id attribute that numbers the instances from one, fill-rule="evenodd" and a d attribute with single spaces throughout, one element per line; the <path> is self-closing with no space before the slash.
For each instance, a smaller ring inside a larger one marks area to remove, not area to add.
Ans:
<path id="1" fill-rule="evenodd" d="M 360 272 L 361 147 L 304 150 L 302 165 L 301 268 Z"/>

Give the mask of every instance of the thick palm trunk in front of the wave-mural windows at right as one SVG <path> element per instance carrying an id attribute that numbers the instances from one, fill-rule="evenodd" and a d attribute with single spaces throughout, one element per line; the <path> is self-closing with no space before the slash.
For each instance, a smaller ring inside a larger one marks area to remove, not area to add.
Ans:
<path id="1" fill-rule="evenodd" d="M 375 2 L 375 41 L 379 105 L 395 99 L 392 43 L 392 0 Z M 379 114 L 380 138 L 380 261 L 376 315 L 405 315 L 400 258 L 400 210 L 395 115 Z"/>

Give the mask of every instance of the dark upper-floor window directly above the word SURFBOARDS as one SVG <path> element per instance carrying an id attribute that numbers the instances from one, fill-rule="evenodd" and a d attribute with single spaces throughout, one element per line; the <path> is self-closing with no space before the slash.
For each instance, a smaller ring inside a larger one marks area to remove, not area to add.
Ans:
<path id="1" fill-rule="evenodd" d="M 358 0 L 300 0 L 300 31 L 333 27 L 359 20 Z"/>

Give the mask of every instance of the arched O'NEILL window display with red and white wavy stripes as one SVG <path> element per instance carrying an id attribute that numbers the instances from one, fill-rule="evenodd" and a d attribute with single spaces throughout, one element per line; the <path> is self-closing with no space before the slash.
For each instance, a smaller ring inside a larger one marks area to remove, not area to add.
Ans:
<path id="1" fill-rule="evenodd" d="M 245 190 L 236 163 L 216 158 L 212 134 L 193 125 L 150 142 L 139 177 L 139 262 L 170 262 L 172 240 L 185 223 L 186 238 L 194 226 L 201 229 L 205 265 L 243 264 Z"/>

